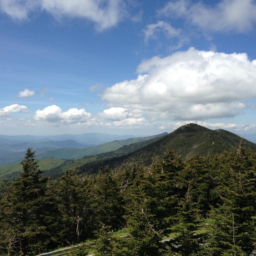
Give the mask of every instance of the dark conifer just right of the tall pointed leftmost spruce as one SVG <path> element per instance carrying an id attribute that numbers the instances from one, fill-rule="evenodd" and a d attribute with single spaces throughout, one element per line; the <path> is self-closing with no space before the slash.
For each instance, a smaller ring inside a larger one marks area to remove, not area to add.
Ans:
<path id="1" fill-rule="evenodd" d="M 79 243 L 90 234 L 89 186 L 87 179 L 77 175 L 75 170 L 67 170 L 52 187 L 61 212 L 62 243 Z"/>

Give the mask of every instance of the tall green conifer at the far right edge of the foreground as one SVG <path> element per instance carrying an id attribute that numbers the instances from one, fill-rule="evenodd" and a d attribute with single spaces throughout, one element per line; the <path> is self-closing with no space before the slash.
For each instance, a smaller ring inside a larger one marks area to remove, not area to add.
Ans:
<path id="1" fill-rule="evenodd" d="M 215 219 L 209 233 L 212 255 L 250 255 L 255 250 L 256 172 L 252 155 L 241 147 L 231 154 L 224 170 L 220 185 L 222 202 L 211 213 Z"/>

